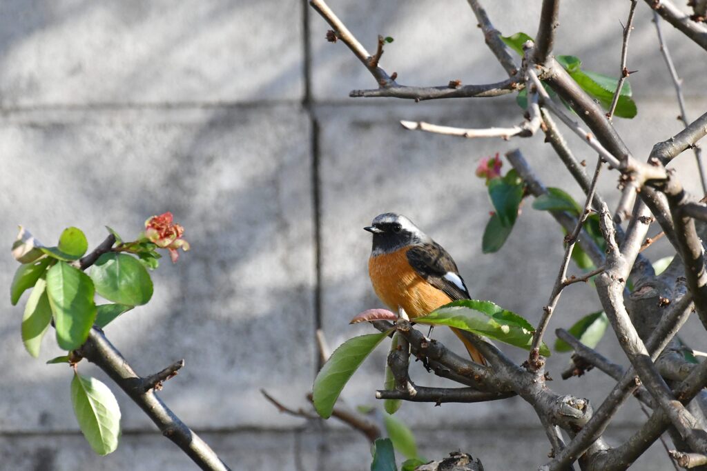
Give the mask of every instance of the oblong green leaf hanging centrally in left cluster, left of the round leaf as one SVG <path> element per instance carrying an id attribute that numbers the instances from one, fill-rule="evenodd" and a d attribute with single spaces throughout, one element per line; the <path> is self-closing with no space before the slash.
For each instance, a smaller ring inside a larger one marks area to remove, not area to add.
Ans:
<path id="1" fill-rule="evenodd" d="M 86 273 L 59 262 L 47 271 L 47 294 L 54 313 L 57 343 L 63 350 L 76 350 L 88 338 L 95 320 L 93 282 Z"/>

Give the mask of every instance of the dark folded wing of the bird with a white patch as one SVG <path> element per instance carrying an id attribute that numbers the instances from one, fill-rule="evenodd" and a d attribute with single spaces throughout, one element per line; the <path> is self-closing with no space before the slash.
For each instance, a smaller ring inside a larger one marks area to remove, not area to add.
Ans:
<path id="1" fill-rule="evenodd" d="M 457 264 L 437 242 L 414 246 L 407 251 L 407 260 L 422 278 L 445 292 L 452 300 L 471 297 L 457 270 Z"/>

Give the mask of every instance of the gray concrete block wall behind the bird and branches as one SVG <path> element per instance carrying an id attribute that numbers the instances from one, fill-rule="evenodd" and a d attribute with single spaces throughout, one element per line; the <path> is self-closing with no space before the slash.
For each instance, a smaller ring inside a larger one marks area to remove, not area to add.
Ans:
<path id="1" fill-rule="evenodd" d="M 539 2 L 523 11 L 513 1 L 486 4 L 503 32 L 534 33 Z M 332 0 L 331 6 L 368 47 L 379 33 L 395 37 L 382 66 L 397 71 L 402 83 L 503 78 L 463 1 Z M 628 2 L 563 4 L 557 51 L 614 73 L 627 9 Z M 107 334 L 141 374 L 186 359 L 160 396 L 235 470 L 367 469 L 365 439 L 333 422 L 281 415 L 259 388 L 305 407 L 316 371 L 315 328 L 325 330 L 332 346 L 370 331 L 348 320 L 380 306 L 366 275 L 370 239 L 361 230 L 373 216 L 409 215 L 455 256 L 475 297 L 534 322 L 559 266 L 561 232 L 547 214 L 527 207 L 502 251 L 481 254 L 490 203 L 474 169 L 480 157 L 521 146 L 547 184 L 580 197 L 541 137 L 463 141 L 397 124 L 515 124 L 513 97 L 424 104 L 349 99 L 352 88 L 375 83 L 342 44 L 325 41 L 327 29 L 301 1 L 0 2 L 0 239 L 9 245 L 22 224 L 49 244 L 76 225 L 95 246 L 106 235 L 103 225 L 129 237 L 146 217 L 175 213 L 192 251 L 174 266 L 163 263 L 153 301 L 119 318 Z M 707 107 L 707 63 L 672 28 L 665 32 L 696 117 Z M 629 68 L 639 71 L 631 76 L 639 114 L 617 120 L 617 127 L 642 158 L 679 130 L 645 4 L 638 6 Z M 588 148 L 568 139 L 593 162 Z M 689 155 L 676 165 L 695 174 Z M 697 183 L 687 181 L 695 191 Z M 604 193 L 615 184 L 616 174 L 604 174 Z M 665 253 L 658 246 L 649 256 Z M 0 285 L 9 285 L 15 268 L 8 254 L 1 258 Z M 29 357 L 19 333 L 22 309 L 6 307 L 1 469 L 193 468 L 115 387 L 122 443 L 107 457 L 93 454 L 71 412 L 69 369 L 45 364 L 61 354 L 54 340 L 45 341 L 39 360 Z M 569 326 L 598 307 L 590 288 L 572 287 L 554 326 Z M 701 333 L 691 329 L 686 340 L 699 345 Z M 612 335 L 600 347 L 621 359 Z M 522 360 L 523 352 L 506 350 Z M 567 361 L 560 354 L 550 359 L 551 386 L 598 403 L 611 381 L 592 371 L 590 387 L 563 382 Z M 384 362 L 381 351 L 366 363 L 344 391 L 349 404 L 375 404 Z M 90 364 L 80 368 L 111 385 Z M 419 383 L 443 384 L 419 364 L 412 374 Z M 547 459 L 537 419 L 521 400 L 407 404 L 399 415 L 431 458 L 461 448 L 489 470 L 531 469 Z M 643 420 L 636 404 L 626 405 L 609 439 L 618 443 Z M 668 463 L 654 446 L 636 466 L 660 470 Z"/>

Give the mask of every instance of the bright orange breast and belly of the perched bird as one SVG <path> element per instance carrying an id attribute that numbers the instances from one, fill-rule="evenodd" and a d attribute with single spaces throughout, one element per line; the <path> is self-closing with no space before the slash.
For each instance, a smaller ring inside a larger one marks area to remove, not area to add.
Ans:
<path id="1" fill-rule="evenodd" d="M 410 318 L 424 316 L 452 299 L 426 282 L 407 261 L 409 247 L 392 254 L 371 256 L 368 275 L 382 302 L 397 312 L 402 307 Z"/>

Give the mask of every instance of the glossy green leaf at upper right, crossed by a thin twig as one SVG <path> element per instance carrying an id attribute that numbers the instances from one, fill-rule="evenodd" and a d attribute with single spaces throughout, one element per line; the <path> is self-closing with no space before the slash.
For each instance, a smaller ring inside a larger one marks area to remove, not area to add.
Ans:
<path id="1" fill-rule="evenodd" d="M 575 56 L 556 56 L 557 61 L 566 69 L 575 82 L 589 95 L 598 100 L 604 109 L 609 109 L 614 99 L 619 81 L 617 78 L 605 76 L 602 73 L 583 71 L 582 61 Z M 621 118 L 633 118 L 638 109 L 636 102 L 631 100 L 631 84 L 624 81 L 619 94 L 619 101 L 614 114 Z"/>

